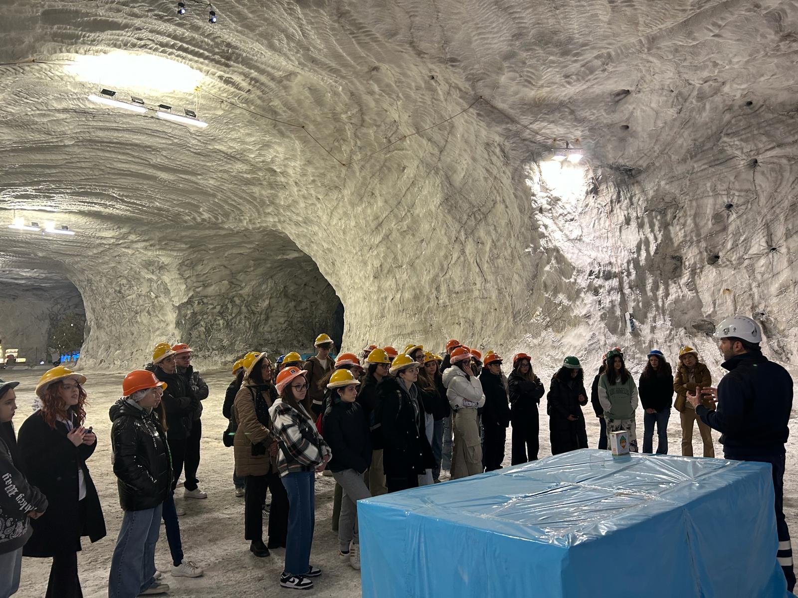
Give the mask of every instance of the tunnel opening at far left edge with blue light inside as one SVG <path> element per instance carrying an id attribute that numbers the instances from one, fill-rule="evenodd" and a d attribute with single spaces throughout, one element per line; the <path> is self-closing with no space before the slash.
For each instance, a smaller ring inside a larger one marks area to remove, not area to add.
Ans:
<path id="1" fill-rule="evenodd" d="M 74 364 L 85 340 L 86 311 L 61 273 L 0 269 L 0 355 L 9 368 Z"/>

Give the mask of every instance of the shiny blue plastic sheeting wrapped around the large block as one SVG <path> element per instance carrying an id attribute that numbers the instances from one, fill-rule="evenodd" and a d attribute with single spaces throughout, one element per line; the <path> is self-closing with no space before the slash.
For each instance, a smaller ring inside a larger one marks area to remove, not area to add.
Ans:
<path id="1" fill-rule="evenodd" d="M 358 502 L 363 598 L 791 596 L 770 466 L 576 450 Z"/>

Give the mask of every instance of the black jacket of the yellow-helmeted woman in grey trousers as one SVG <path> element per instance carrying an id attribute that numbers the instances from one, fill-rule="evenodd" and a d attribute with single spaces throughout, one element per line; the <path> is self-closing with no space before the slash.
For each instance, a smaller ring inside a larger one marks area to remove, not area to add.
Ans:
<path id="1" fill-rule="evenodd" d="M 333 451 L 327 464 L 330 471 L 355 470 L 362 474 L 371 465 L 371 433 L 363 407 L 357 402 L 327 408 L 322 429 L 324 439 Z"/>

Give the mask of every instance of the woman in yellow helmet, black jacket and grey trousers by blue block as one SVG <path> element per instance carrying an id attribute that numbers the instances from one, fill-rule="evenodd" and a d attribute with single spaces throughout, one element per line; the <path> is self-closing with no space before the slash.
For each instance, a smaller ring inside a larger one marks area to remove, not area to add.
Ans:
<path id="1" fill-rule="evenodd" d="M 359 385 L 360 382 L 348 370 L 334 372 L 327 384 L 332 395 L 322 426 L 324 439 L 333 453 L 329 468 L 343 489 L 338 521 L 338 556 L 349 561 L 355 569 L 360 568 L 357 502 L 371 496 L 363 480 L 363 474 L 371 464 L 371 433 L 363 407 L 355 400 Z"/>

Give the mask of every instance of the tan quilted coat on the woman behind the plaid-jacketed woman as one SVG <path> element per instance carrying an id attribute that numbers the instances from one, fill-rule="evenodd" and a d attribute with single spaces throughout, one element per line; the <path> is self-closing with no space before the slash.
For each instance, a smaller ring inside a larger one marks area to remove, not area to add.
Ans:
<path id="1" fill-rule="evenodd" d="M 233 437 L 235 474 L 241 477 L 277 472 L 277 441 L 255 416 L 254 387 L 255 384 L 247 378 L 233 401 L 233 417 L 239 425 Z M 271 407 L 272 397 L 267 392 L 262 394 Z M 266 445 L 266 454 L 252 454 L 253 445 L 259 443 Z"/>

